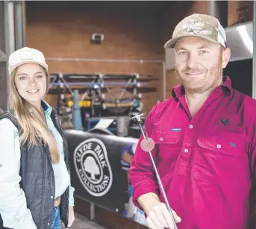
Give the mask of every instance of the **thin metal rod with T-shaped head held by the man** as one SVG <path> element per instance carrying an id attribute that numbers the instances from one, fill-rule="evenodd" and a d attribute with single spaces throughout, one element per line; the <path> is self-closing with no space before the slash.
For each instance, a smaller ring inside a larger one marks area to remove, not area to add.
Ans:
<path id="1" fill-rule="evenodd" d="M 140 114 L 140 115 L 134 116 L 134 117 L 132 117 L 131 119 L 137 119 L 138 124 L 139 124 L 139 126 L 140 126 L 141 134 L 143 134 L 143 138 L 144 138 L 144 139 L 147 139 L 146 134 L 145 134 L 145 132 L 144 132 L 144 130 L 143 130 L 143 121 L 140 119 L 140 116 L 143 116 L 143 115 L 145 115 L 145 114 Z M 153 156 L 152 156 L 152 152 L 151 152 L 151 151 L 148 151 L 148 152 L 149 152 L 149 157 L 150 157 L 150 159 L 151 159 L 151 161 L 152 161 L 152 165 L 153 165 L 153 167 L 154 167 L 155 175 L 157 176 L 157 181 L 158 181 L 158 184 L 159 184 L 159 186 L 160 186 L 160 190 L 161 190 L 161 192 L 162 192 L 162 194 L 163 194 L 163 198 L 164 198 L 166 207 L 167 207 L 167 209 L 169 210 L 169 213 L 170 213 L 171 216 L 172 216 L 172 223 L 173 223 L 173 225 L 174 225 L 174 228 L 175 228 L 175 229 L 178 229 L 178 228 L 177 228 L 177 225 L 176 225 L 176 222 L 175 222 L 175 219 L 174 219 L 174 216 L 173 216 L 173 213 L 172 213 L 172 209 L 171 209 L 171 207 L 169 206 L 169 201 L 168 201 L 168 198 L 167 198 L 167 196 L 166 196 L 166 192 L 165 192 L 164 189 L 163 189 L 163 183 L 162 183 L 162 181 L 161 181 L 161 179 L 160 179 L 159 173 L 157 172 L 157 166 L 156 166 L 155 163 L 154 163 L 154 158 L 153 158 Z"/>

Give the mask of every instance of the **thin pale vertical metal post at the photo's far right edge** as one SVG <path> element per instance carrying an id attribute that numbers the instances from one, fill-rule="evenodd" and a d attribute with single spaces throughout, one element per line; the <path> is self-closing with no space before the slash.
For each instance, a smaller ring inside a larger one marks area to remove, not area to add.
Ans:
<path id="1" fill-rule="evenodd" d="M 256 1 L 253 1 L 252 98 L 256 98 Z"/>

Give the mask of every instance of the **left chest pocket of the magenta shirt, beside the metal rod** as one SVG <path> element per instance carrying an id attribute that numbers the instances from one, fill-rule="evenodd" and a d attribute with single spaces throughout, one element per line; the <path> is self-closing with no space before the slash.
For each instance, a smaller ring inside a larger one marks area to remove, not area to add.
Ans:
<path id="1" fill-rule="evenodd" d="M 152 131 L 151 138 L 157 150 L 157 168 L 160 175 L 172 174 L 181 151 L 181 131 L 157 128 Z"/>

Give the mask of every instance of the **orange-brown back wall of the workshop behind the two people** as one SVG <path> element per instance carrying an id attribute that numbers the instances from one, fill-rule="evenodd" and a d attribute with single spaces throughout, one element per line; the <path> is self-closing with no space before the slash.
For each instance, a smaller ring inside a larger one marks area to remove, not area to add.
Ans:
<path id="1" fill-rule="evenodd" d="M 152 15 L 90 13 L 85 9 L 56 7 L 58 1 L 28 1 L 26 45 L 38 48 L 46 57 L 99 58 L 126 60 L 163 60 L 159 43 L 159 19 Z M 78 4 L 78 1 L 76 2 Z M 102 45 L 90 44 L 93 33 L 104 34 Z M 127 74 L 137 72 L 159 78 L 143 93 L 144 112 L 162 96 L 163 66 L 160 63 L 101 63 L 49 61 L 50 72 Z M 46 100 L 54 105 L 56 98 Z"/>

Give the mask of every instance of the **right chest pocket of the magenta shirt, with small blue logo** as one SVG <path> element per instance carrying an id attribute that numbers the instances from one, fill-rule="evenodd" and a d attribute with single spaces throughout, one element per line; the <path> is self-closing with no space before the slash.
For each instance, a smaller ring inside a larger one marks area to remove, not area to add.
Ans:
<path id="1" fill-rule="evenodd" d="M 241 185 L 249 181 L 246 142 L 237 134 L 200 135 L 193 176 L 203 181 Z"/>

